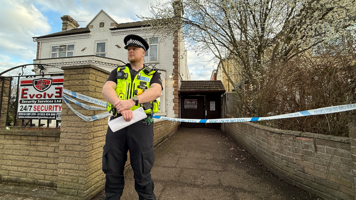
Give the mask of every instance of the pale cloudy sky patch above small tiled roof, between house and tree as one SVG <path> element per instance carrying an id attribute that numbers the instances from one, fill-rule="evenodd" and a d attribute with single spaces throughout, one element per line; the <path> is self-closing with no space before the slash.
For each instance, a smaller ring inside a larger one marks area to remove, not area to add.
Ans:
<path id="1" fill-rule="evenodd" d="M 211 60 L 211 56 L 203 55 L 198 57 L 198 54 L 192 51 L 187 51 L 188 69 L 191 73 L 190 78 L 192 80 L 210 80 L 211 72 L 213 68 L 216 68 L 216 64 Z"/>

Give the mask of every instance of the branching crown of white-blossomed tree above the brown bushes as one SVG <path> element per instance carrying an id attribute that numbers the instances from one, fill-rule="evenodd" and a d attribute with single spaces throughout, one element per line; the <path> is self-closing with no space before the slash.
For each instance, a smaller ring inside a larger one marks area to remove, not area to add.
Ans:
<path id="1" fill-rule="evenodd" d="M 285 61 L 318 44 L 355 31 L 355 1 L 335 0 L 183 0 L 184 16 L 172 4 L 151 6 L 140 16 L 148 31 L 164 38 L 183 30 L 194 52 L 213 54 L 229 82 L 223 62 L 232 59 L 241 78 L 257 82 L 268 64 Z"/>

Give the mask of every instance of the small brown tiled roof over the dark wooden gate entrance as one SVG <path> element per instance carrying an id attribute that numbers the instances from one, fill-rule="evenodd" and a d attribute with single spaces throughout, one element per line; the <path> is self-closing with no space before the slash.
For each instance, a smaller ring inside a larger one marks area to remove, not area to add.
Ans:
<path id="1" fill-rule="evenodd" d="M 219 91 L 225 92 L 221 80 L 182 80 L 179 91 Z"/>

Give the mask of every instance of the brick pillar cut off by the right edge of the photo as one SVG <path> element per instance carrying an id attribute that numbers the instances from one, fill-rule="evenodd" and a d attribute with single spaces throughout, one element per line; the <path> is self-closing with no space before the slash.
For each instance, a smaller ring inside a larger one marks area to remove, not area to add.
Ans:
<path id="1" fill-rule="evenodd" d="M 352 154 L 352 172 L 354 174 L 354 189 L 356 190 L 356 116 L 349 116 L 349 138 Z M 356 196 L 355 196 L 356 200 Z"/>

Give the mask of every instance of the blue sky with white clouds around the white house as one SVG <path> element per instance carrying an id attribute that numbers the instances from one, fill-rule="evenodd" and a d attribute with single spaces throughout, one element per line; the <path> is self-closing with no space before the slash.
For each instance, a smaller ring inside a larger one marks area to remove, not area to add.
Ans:
<path id="1" fill-rule="evenodd" d="M 135 2 L 135 4 L 132 4 Z M 140 21 L 149 16 L 156 0 L 0 0 L 0 72 L 36 59 L 37 43 L 32 37 L 62 31 L 61 16 L 76 19 L 85 27 L 103 9 L 117 23 Z M 192 80 L 209 80 L 214 63 L 188 51 Z"/>

